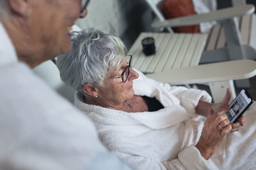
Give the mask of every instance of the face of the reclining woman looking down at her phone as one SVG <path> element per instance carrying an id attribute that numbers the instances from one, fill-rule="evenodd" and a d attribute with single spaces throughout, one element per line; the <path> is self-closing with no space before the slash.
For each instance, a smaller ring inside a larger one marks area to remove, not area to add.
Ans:
<path id="1" fill-rule="evenodd" d="M 113 104 L 120 104 L 134 96 L 132 80 L 138 78 L 138 73 L 130 68 L 127 81 L 123 82 L 122 78 L 117 78 L 121 76 L 126 67 L 127 61 L 124 57 L 122 64 L 120 64 L 120 66 L 118 66 L 113 73 L 107 74 L 105 80 L 103 81 L 104 87 L 99 88 L 99 97 L 104 101 L 108 101 L 108 103 Z"/>

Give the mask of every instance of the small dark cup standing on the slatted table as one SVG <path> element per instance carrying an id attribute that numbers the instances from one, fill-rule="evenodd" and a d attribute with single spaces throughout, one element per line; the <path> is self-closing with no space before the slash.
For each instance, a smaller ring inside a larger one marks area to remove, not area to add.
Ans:
<path id="1" fill-rule="evenodd" d="M 152 37 L 146 37 L 142 39 L 141 41 L 142 47 L 143 47 L 143 53 L 145 53 L 146 56 L 153 55 L 156 53 L 156 46 L 155 46 L 155 40 Z"/>

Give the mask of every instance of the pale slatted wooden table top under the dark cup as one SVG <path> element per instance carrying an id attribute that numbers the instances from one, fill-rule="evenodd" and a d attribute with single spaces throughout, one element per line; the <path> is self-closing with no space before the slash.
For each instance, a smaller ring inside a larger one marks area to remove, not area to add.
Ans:
<path id="1" fill-rule="evenodd" d="M 148 36 L 155 39 L 156 53 L 146 57 L 141 40 Z M 197 66 L 206 39 L 206 34 L 141 32 L 128 53 L 132 55 L 132 67 L 146 74 Z"/>

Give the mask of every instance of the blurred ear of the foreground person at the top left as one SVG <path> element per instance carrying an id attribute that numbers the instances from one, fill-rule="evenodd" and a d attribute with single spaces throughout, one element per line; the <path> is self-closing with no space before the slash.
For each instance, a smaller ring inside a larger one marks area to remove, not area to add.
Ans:
<path id="1" fill-rule="evenodd" d="M 8 0 L 11 10 L 17 15 L 28 17 L 31 13 L 31 0 Z"/>

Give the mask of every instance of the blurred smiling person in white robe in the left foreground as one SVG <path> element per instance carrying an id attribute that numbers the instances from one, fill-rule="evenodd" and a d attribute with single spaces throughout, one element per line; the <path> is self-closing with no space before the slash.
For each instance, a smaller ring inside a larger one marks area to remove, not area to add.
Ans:
<path id="1" fill-rule="evenodd" d="M 0 169 L 127 169 L 31 68 L 70 50 L 88 1 L 0 0 Z"/>

